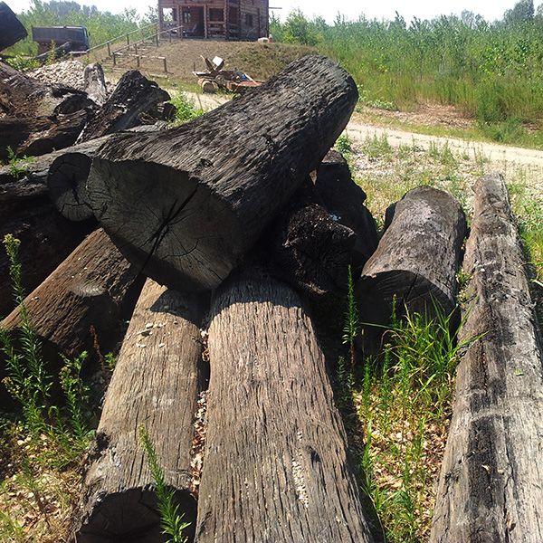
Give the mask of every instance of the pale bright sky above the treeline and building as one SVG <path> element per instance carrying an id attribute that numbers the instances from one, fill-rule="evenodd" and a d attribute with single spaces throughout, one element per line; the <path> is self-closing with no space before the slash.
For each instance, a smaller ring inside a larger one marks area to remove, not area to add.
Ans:
<path id="1" fill-rule="evenodd" d="M 79 1 L 79 0 L 78 0 Z M 543 0 L 541 0 L 543 1 Z M 338 14 L 345 15 L 348 19 L 357 19 L 359 14 L 365 14 L 367 18 L 393 19 L 395 12 L 403 15 L 406 21 L 414 16 L 419 19 L 431 19 L 441 14 L 461 14 L 462 10 L 469 9 L 476 14 L 481 14 L 488 21 L 500 19 L 503 12 L 515 5 L 516 0 L 412 0 L 398 2 L 397 0 L 270 0 L 271 7 L 281 7 L 276 10 L 281 19 L 289 14 L 291 9 L 300 10 L 309 16 L 320 15 L 329 23 L 332 23 Z M 21 12 L 30 5 L 29 0 L 7 0 L 14 12 Z M 139 12 L 145 13 L 147 6 L 154 4 L 152 0 L 88 0 L 80 4 L 96 5 L 100 10 L 119 13 L 126 7 L 136 7 Z M 535 2 L 538 5 L 538 1 Z"/>

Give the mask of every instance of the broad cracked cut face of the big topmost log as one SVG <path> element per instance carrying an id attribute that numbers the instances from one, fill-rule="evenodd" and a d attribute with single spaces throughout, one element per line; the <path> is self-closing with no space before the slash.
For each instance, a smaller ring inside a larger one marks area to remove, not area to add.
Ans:
<path id="1" fill-rule="evenodd" d="M 185 171 L 96 157 L 87 186 L 94 214 L 120 252 L 160 284 L 214 289 L 241 262 L 237 217 Z"/>

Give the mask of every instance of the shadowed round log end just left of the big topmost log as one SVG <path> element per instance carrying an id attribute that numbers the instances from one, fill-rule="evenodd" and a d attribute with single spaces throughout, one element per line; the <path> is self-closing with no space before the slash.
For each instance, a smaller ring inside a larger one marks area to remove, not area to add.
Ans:
<path id="1" fill-rule="evenodd" d="M 71 221 L 85 221 L 93 216 L 86 182 L 91 159 L 81 153 L 67 153 L 56 158 L 49 170 L 47 186 L 56 209 Z"/>

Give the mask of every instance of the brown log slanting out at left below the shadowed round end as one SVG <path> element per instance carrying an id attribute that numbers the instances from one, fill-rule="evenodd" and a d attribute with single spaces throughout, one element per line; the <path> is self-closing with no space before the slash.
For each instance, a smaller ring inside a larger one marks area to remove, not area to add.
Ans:
<path id="1" fill-rule="evenodd" d="M 33 329 L 48 356 L 79 355 L 92 345 L 90 326 L 100 340 L 115 330 L 120 306 L 138 273 L 102 229 L 90 235 L 25 299 Z M 21 324 L 13 310 L 0 324 Z"/>

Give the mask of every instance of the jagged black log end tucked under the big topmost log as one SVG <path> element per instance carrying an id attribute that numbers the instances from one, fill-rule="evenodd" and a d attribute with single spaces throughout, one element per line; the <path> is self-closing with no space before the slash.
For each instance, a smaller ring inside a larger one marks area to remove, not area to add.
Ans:
<path id="1" fill-rule="evenodd" d="M 357 235 L 322 205 L 308 177 L 263 236 L 273 275 L 311 300 L 347 291 Z"/>

